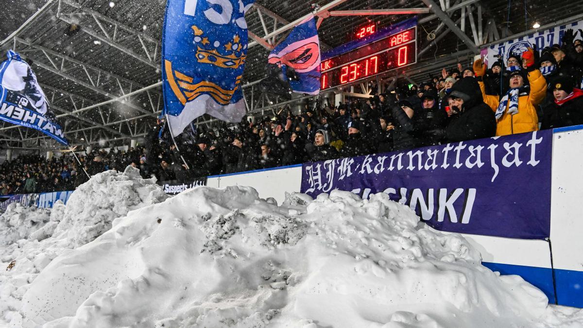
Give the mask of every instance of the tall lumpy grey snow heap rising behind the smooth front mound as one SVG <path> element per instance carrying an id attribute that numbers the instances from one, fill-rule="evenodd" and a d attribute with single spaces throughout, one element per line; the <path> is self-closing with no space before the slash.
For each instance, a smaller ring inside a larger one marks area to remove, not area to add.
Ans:
<path id="1" fill-rule="evenodd" d="M 154 179 L 142 179 L 139 169 L 109 170 L 93 176 L 71 194 L 55 233 L 66 232 L 82 246 L 111 229 L 111 222 L 129 211 L 168 198 Z"/>

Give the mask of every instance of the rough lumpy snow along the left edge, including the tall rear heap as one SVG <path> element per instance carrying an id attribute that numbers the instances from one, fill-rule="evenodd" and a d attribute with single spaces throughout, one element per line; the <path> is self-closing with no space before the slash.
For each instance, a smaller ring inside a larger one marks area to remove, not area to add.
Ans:
<path id="1" fill-rule="evenodd" d="M 139 170 L 128 167 L 92 177 L 66 206 L 58 202 L 45 210 L 10 204 L 0 216 L 0 325 L 20 326 L 23 295 L 53 259 L 111 229 L 115 218 L 166 198 L 154 180 L 143 180 Z"/>

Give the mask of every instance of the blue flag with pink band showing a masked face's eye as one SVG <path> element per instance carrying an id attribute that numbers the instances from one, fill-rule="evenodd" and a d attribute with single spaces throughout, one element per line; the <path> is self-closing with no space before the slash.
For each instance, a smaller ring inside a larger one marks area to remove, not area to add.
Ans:
<path id="1" fill-rule="evenodd" d="M 289 36 L 273 48 L 268 60 L 269 64 L 278 65 L 282 69 L 291 90 L 318 95 L 322 74 L 320 41 L 314 16 L 296 25 Z M 291 71 L 295 74 L 291 74 Z"/>

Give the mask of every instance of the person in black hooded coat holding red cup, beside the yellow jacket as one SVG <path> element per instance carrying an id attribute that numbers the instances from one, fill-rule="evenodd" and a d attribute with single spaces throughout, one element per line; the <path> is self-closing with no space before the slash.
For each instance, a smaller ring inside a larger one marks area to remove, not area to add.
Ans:
<path id="1" fill-rule="evenodd" d="M 445 129 L 447 141 L 467 141 L 496 135 L 494 111 L 484 103 L 475 78 L 468 76 L 456 82 L 449 97 L 454 100 L 454 114 Z"/>

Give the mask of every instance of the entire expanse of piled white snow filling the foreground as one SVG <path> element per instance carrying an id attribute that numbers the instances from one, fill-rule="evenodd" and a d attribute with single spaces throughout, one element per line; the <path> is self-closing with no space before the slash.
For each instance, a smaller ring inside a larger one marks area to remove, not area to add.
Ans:
<path id="1" fill-rule="evenodd" d="M 385 194 L 167 199 L 128 168 L 51 211 L 10 205 L 0 259 L 6 326 L 583 327 Z"/>

